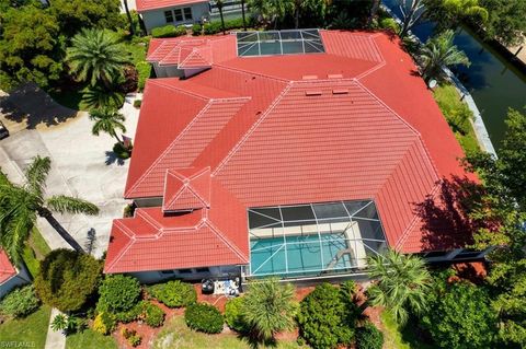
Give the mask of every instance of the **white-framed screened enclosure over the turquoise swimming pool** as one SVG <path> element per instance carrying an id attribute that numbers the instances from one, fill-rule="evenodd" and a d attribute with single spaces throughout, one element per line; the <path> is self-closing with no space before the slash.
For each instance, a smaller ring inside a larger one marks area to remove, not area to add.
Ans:
<path id="1" fill-rule="evenodd" d="M 253 277 L 354 272 L 387 248 L 373 200 L 251 208 L 248 214 Z"/>

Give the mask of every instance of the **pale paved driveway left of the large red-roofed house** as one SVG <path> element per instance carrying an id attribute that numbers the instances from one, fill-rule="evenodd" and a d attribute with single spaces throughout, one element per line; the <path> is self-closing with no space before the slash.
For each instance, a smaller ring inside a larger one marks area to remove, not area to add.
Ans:
<path id="1" fill-rule="evenodd" d="M 132 105 L 134 100 L 128 96 L 122 110 L 128 137 L 135 136 L 138 119 L 138 110 Z M 88 232 L 94 231 L 92 253 L 101 256 L 107 246 L 112 220 L 123 216 L 127 203 L 123 193 L 129 161 L 116 161 L 111 152 L 115 140 L 107 135 L 92 136 L 92 124 L 88 114 L 81 112 L 55 126 L 42 123 L 19 129 L 0 141 L 0 166 L 12 181 L 20 182 L 33 156 L 49 156 L 52 171 L 46 194 L 78 196 L 101 209 L 96 217 L 55 214 L 55 218 L 82 246 L 89 244 Z M 67 246 L 47 221 L 39 220 L 38 228 L 52 248 Z"/>

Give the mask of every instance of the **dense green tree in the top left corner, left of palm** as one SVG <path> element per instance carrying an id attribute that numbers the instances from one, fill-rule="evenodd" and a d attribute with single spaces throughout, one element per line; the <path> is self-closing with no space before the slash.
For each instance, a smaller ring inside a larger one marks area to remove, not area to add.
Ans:
<path id="1" fill-rule="evenodd" d="M 64 42 L 47 9 L 26 4 L 0 11 L 0 89 L 26 81 L 46 88 L 58 80 Z"/>

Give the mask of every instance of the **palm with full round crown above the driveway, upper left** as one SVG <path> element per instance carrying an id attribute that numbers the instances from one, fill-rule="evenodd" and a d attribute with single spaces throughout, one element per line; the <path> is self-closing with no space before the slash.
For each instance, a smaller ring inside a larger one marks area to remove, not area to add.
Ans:
<path id="1" fill-rule="evenodd" d="M 72 38 L 67 49 L 66 61 L 71 72 L 91 85 L 102 82 L 106 90 L 116 77 L 123 75 L 124 67 L 130 63 L 129 54 L 119 44 L 115 33 L 103 30 L 82 30 Z"/>

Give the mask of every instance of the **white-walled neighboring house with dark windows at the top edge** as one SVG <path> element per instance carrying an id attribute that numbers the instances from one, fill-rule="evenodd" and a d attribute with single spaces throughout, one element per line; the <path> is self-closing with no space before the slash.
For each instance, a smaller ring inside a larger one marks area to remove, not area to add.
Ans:
<path id="1" fill-rule="evenodd" d="M 206 0 L 137 0 L 137 12 L 142 16 L 148 34 L 158 26 L 186 25 L 219 20 L 215 1 Z M 225 19 L 241 15 L 238 1 L 224 2 Z"/>

